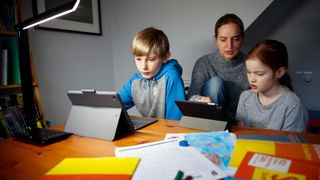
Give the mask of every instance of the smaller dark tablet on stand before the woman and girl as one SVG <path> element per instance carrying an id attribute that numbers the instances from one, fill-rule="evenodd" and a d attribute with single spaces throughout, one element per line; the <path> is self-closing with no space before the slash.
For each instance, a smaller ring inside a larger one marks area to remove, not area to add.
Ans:
<path id="1" fill-rule="evenodd" d="M 182 113 L 179 126 L 204 131 L 224 131 L 228 120 L 222 106 L 215 103 L 176 101 Z"/>

